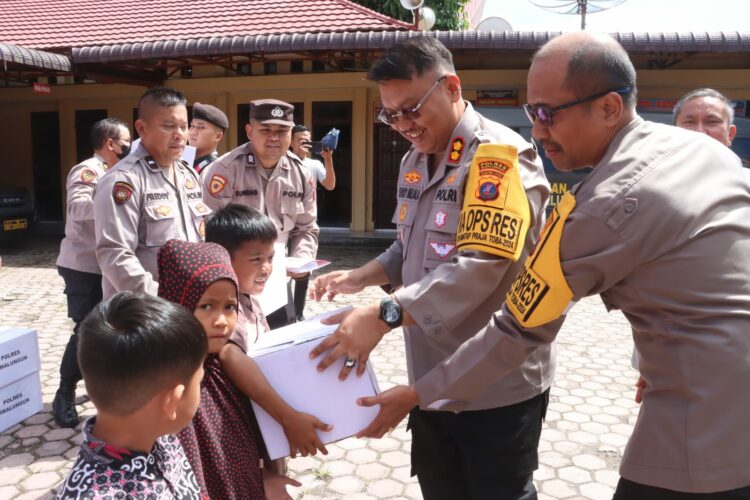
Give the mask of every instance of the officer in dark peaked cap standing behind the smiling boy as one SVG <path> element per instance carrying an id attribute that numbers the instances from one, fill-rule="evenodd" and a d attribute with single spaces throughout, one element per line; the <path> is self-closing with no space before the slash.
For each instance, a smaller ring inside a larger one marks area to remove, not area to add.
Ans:
<path id="1" fill-rule="evenodd" d="M 203 196 L 212 209 L 241 203 L 260 210 L 276 224 L 277 243 L 289 243 L 290 256 L 314 259 L 319 233 L 316 186 L 307 167 L 289 152 L 293 126 L 291 104 L 275 99 L 251 102 L 246 127 L 249 142 L 203 171 Z M 285 272 L 274 266 L 274 274 Z M 266 313 L 271 328 L 293 322 L 291 298 L 287 307 Z"/>

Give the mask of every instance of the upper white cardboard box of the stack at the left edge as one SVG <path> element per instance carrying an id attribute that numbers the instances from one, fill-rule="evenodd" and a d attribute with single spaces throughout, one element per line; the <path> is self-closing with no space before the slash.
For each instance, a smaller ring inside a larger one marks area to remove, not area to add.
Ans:
<path id="1" fill-rule="evenodd" d="M 36 330 L 0 327 L 0 387 L 38 371 Z"/>

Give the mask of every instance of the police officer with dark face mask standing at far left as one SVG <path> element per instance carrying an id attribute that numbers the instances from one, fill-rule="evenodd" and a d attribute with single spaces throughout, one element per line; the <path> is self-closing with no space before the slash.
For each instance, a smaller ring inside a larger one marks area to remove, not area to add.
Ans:
<path id="1" fill-rule="evenodd" d="M 91 129 L 94 156 L 68 173 L 65 238 L 60 243 L 57 271 L 65 281 L 68 317 L 73 335 L 60 363 L 60 387 L 52 401 L 52 415 L 60 427 L 78 425 L 76 385 L 82 379 L 78 368 L 78 326 L 102 300 L 102 272 L 96 261 L 94 240 L 94 189 L 99 180 L 130 151 L 128 125 L 117 118 L 99 120 Z"/>

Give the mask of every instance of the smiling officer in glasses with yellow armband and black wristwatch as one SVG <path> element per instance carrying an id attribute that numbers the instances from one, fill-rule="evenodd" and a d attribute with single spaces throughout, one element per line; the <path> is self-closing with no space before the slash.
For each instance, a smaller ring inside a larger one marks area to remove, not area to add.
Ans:
<path id="1" fill-rule="evenodd" d="M 380 118 L 412 148 L 398 177 L 398 237 L 375 260 L 318 277 L 316 298 L 387 284 L 380 304 L 356 308 L 314 354 L 325 368 L 346 354 L 342 376 L 364 370 L 369 351 L 404 326 L 410 381 L 452 354 L 491 317 L 537 240 L 549 184 L 531 144 L 464 101 L 450 52 L 433 37 L 391 48 L 368 73 Z M 359 342 L 362 341 L 366 345 Z M 552 383 L 550 346 L 459 414 L 426 412 L 397 388 L 360 436 L 380 437 L 414 408 L 412 472 L 426 499 L 536 498 L 536 448 Z"/>

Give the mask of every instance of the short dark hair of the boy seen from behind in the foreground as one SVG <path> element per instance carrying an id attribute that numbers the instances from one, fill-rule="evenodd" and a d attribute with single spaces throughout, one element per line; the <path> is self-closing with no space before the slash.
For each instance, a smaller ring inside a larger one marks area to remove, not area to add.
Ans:
<path id="1" fill-rule="evenodd" d="M 78 363 L 91 401 L 120 416 L 189 382 L 208 351 L 206 332 L 190 311 L 132 292 L 99 303 L 78 334 Z"/>

